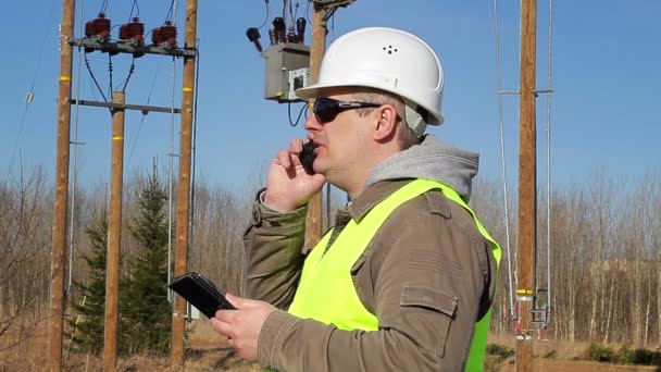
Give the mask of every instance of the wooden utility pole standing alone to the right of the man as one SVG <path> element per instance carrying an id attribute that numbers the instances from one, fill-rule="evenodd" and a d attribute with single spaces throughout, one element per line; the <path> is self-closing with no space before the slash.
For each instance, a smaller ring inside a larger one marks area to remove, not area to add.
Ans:
<path id="1" fill-rule="evenodd" d="M 521 330 L 516 335 L 516 371 L 533 370 L 533 323 L 535 303 L 534 247 L 537 216 L 537 134 L 536 134 L 536 0 L 521 3 L 521 102 L 519 139 L 519 262 L 516 301 Z"/>

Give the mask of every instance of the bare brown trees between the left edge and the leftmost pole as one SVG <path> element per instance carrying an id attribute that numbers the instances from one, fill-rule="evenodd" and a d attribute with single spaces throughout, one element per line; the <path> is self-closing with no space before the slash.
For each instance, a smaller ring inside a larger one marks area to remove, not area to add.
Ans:
<path id="1" fill-rule="evenodd" d="M 3 350 L 28 338 L 43 320 L 51 199 L 40 168 L 0 189 L 0 337 L 11 337 Z"/>

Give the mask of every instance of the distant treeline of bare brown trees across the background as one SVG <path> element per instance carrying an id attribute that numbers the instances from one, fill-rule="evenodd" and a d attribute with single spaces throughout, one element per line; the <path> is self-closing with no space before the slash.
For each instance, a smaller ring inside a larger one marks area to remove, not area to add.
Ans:
<path id="1" fill-rule="evenodd" d="M 128 181 L 124 186 L 124 224 L 136 218 L 137 195 L 148 176 L 146 172 L 125 177 Z M 203 177 L 198 177 L 195 185 L 189 268 L 204 273 L 230 293 L 241 293 L 242 234 L 262 179 L 255 176 L 248 181 L 241 195 Z M 173 190 L 174 219 L 176 184 Z M 74 222 L 71 232 L 74 282 L 87 280 L 88 268 L 83 257 L 90 253 L 92 246 L 85 230 L 107 208 L 108 194 L 105 184 L 77 187 L 75 208 L 70 211 Z M 344 199 L 339 193 L 335 194 L 332 209 Z M 53 195 L 52 177 L 41 168 L 20 178 L 5 176 L 0 183 L 0 338 L 5 338 L 3 345 L 8 345 L 8 337 L 16 343 L 29 338 L 50 314 Z M 510 262 L 515 280 L 515 194 L 509 199 L 513 250 Z M 502 185 L 497 181 L 477 179 L 471 203 L 503 248 L 492 330 L 513 332 Z M 537 204 L 537 283 L 539 288 L 547 288 L 546 190 L 539 190 Z M 622 342 L 634 346 L 661 343 L 660 175 L 652 173 L 639 181 L 627 179 L 627 187 L 623 188 L 620 182 L 597 173 L 585 186 L 552 188 L 550 210 L 551 323 L 547 337 Z M 173 226 L 175 223 L 178 222 L 173 220 Z M 172 244 L 174 246 L 174 240 Z M 136 255 L 136 246 L 128 228 L 124 228 L 123 274 L 127 272 L 125 263 Z M 68 283 L 68 271 L 65 283 Z M 70 303 L 82 300 L 73 285 L 68 298 Z M 546 303 L 547 295 L 541 293 L 539 305 Z M 70 308 L 67 317 L 75 315 Z"/>

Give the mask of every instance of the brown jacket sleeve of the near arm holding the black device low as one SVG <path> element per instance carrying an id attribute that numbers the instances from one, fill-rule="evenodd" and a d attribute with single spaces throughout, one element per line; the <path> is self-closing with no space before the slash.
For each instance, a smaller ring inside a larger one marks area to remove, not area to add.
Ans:
<path id="1" fill-rule="evenodd" d="M 353 268 L 378 331 L 341 331 L 276 311 L 262 327 L 260 363 L 279 371 L 462 371 L 489 293 L 488 244 L 465 215 L 456 216 L 463 209 L 446 202 L 431 211 L 426 199 L 396 211 Z"/>

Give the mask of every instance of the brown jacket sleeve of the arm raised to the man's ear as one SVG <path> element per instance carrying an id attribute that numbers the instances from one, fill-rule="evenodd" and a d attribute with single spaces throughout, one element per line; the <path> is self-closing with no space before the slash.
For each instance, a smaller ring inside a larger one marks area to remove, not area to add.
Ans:
<path id="1" fill-rule="evenodd" d="M 259 194 L 261 195 L 261 193 Z M 285 309 L 294 300 L 303 264 L 307 207 L 279 213 L 260 201 L 244 234 L 246 297 Z"/>

